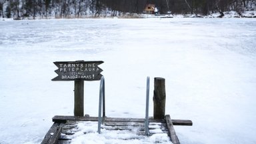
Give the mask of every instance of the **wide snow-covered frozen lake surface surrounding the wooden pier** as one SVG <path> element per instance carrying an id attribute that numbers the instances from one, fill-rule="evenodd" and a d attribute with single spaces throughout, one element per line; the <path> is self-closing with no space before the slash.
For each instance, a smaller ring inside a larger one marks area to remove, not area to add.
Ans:
<path id="1" fill-rule="evenodd" d="M 166 79 L 181 143 L 256 143 L 256 19 L 0 21 L 0 143 L 41 143 L 54 115 L 73 115 L 73 81 L 53 61 L 98 61 L 108 117 L 145 117 L 146 78 Z M 99 81 L 85 81 L 97 116 Z M 153 115 L 152 101 L 149 115 Z"/>

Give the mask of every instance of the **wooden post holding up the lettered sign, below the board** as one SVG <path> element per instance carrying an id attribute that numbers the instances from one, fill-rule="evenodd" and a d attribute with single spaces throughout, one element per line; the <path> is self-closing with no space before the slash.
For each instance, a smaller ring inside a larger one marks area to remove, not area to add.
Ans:
<path id="1" fill-rule="evenodd" d="M 83 80 L 75 81 L 74 115 L 83 117 Z"/>

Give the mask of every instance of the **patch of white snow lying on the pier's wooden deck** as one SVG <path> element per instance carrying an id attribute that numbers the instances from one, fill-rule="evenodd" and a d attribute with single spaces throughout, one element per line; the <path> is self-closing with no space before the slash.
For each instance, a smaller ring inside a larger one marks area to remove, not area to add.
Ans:
<path id="1" fill-rule="evenodd" d="M 67 135 L 72 139 L 71 144 L 77 143 L 123 143 L 123 144 L 171 144 L 167 133 L 161 130 L 161 123 L 149 123 L 149 137 L 143 135 L 143 130 L 139 127 L 127 126 L 121 130 L 118 127 L 101 126 L 101 134 L 97 133 L 98 123 L 96 121 L 85 121 L 77 124 L 71 129 L 73 135 Z M 114 130 L 115 129 L 115 130 Z M 142 133 L 141 133 L 142 132 Z M 137 133 L 141 133 L 137 135 Z"/>

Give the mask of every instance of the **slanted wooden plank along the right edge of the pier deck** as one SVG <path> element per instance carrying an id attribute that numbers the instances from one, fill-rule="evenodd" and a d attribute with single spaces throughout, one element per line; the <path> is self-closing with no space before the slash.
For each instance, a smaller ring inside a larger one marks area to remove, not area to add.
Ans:
<path id="1" fill-rule="evenodd" d="M 170 133 L 170 137 L 171 137 L 171 142 L 173 144 L 180 144 L 179 143 L 179 139 L 175 133 L 174 127 L 173 127 L 173 123 L 171 122 L 171 117 L 170 115 L 165 115 L 165 120 L 166 120 L 166 124 L 167 124 L 167 128 L 169 130 Z"/>

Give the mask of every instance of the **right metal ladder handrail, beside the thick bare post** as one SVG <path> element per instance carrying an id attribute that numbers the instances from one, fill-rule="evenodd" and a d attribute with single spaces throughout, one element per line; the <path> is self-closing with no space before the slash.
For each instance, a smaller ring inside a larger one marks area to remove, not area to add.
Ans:
<path id="1" fill-rule="evenodd" d="M 147 77 L 147 98 L 146 98 L 146 117 L 145 117 L 145 135 L 149 135 L 149 77 Z"/>

